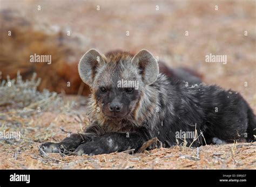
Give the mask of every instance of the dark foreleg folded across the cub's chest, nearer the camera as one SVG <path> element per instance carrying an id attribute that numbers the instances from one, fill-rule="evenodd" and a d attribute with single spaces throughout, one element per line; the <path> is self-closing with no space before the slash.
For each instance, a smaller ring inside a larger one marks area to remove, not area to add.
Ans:
<path id="1" fill-rule="evenodd" d="M 146 141 L 139 133 L 109 133 L 95 141 L 85 142 L 76 150 L 76 155 L 98 155 L 122 152 L 129 149 L 137 151 Z"/>

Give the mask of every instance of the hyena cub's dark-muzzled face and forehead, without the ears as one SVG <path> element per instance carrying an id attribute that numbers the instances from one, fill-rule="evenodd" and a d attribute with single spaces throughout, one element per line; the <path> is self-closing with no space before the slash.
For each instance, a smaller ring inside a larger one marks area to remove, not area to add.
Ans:
<path id="1" fill-rule="evenodd" d="M 122 119 L 138 102 L 142 78 L 136 74 L 136 68 L 129 67 L 129 63 L 129 56 L 117 63 L 105 63 L 95 76 L 93 96 L 106 117 Z"/>

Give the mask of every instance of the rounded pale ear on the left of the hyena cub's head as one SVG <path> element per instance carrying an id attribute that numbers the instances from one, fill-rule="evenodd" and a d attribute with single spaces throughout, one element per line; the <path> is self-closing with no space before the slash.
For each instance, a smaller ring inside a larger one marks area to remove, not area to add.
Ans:
<path id="1" fill-rule="evenodd" d="M 96 49 L 90 49 L 81 58 L 78 64 L 78 72 L 82 81 L 92 85 L 97 68 L 105 63 L 106 57 L 100 55 Z"/>

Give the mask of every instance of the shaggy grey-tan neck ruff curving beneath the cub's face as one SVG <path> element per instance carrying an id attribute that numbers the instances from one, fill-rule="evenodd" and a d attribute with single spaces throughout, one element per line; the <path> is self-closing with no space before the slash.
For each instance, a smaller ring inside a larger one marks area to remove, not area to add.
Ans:
<path id="1" fill-rule="evenodd" d="M 161 113 L 164 107 L 164 97 L 168 95 L 168 84 L 163 84 L 166 82 L 168 82 L 167 77 L 159 74 L 156 82 L 151 85 L 145 85 L 134 110 L 129 116 L 119 121 L 108 119 L 102 112 L 97 111 L 97 103 L 91 96 L 87 109 L 88 117 L 91 121 L 105 127 L 105 130 L 110 132 L 131 132 L 142 126 L 152 129 L 156 125 L 154 121 L 159 121 L 158 118 L 164 118 Z"/>

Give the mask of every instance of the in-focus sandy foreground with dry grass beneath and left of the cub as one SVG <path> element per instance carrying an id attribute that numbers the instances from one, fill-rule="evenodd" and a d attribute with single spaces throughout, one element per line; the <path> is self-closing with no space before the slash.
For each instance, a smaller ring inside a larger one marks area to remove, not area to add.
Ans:
<path id="1" fill-rule="evenodd" d="M 96 156 L 40 155 L 38 146 L 45 141 L 60 141 L 82 128 L 76 114 L 44 112 L 20 125 L 21 141 L 0 142 L 0 169 L 255 169 L 256 143 L 235 143 L 197 148 L 175 146 L 144 153 L 111 153 Z M 62 128 L 62 130 L 60 129 Z M 13 127 L 10 127 L 13 131 Z M 66 132 L 63 132 L 66 131 Z"/>

